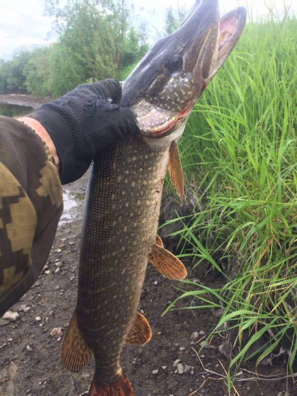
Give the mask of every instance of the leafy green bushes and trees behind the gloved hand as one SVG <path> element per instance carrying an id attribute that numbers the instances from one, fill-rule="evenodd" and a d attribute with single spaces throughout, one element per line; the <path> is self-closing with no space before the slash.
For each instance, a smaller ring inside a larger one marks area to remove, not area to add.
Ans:
<path id="1" fill-rule="evenodd" d="M 75 1 L 63 8 L 48 0 L 47 10 L 56 17 L 58 43 L 0 61 L 0 92 L 58 97 L 87 81 L 116 78 L 148 49 L 144 31 L 130 26 L 125 0 Z"/>

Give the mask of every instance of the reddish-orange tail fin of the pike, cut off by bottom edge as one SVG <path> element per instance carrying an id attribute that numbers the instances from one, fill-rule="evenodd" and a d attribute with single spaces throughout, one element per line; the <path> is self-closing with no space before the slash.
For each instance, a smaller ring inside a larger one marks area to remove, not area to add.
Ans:
<path id="1" fill-rule="evenodd" d="M 100 388 L 93 380 L 89 391 L 89 396 L 134 396 L 130 381 L 122 372 L 120 379 L 115 384 L 105 385 Z"/>

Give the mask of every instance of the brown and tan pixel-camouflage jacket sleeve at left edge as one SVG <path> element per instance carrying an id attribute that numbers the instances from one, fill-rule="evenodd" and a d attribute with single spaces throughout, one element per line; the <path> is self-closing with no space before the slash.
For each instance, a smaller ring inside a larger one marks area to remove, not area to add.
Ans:
<path id="1" fill-rule="evenodd" d="M 0 117 L 0 316 L 40 275 L 62 198 L 47 146 L 27 125 Z"/>

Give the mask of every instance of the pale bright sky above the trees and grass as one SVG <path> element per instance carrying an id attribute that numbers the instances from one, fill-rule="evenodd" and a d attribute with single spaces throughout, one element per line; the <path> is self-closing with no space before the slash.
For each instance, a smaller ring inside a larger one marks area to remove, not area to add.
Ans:
<path id="1" fill-rule="evenodd" d="M 65 0 L 62 0 L 65 1 Z M 190 9 L 194 0 L 130 0 L 134 2 L 134 21 L 149 21 L 151 41 L 162 32 L 165 10 L 172 5 Z M 252 9 L 253 15 L 264 16 L 267 13 L 265 2 L 272 0 L 219 0 L 221 13 L 230 11 L 238 5 Z M 291 12 L 297 15 L 297 0 L 292 2 Z M 9 58 L 20 49 L 48 45 L 53 42 L 53 18 L 44 13 L 44 0 L 0 0 L 0 58 Z M 284 0 L 273 0 L 276 10 L 281 14 Z"/>

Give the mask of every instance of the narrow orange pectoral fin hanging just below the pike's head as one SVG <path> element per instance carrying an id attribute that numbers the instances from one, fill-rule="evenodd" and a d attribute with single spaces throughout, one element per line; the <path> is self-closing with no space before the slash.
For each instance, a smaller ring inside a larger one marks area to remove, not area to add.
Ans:
<path id="1" fill-rule="evenodd" d="M 181 157 L 179 155 L 178 146 L 175 140 L 171 143 L 169 153 L 170 153 L 170 162 L 168 166 L 169 177 L 174 190 L 181 199 L 181 203 L 183 203 L 184 173 L 181 163 Z"/>

